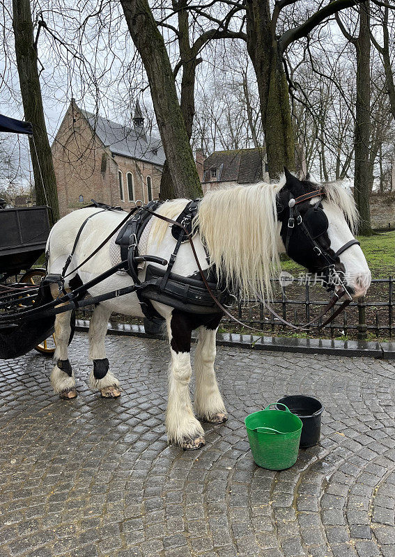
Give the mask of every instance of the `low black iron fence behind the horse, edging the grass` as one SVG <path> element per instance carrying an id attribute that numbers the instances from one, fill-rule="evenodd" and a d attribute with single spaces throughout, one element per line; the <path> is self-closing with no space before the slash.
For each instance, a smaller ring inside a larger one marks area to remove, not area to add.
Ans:
<path id="1" fill-rule="evenodd" d="M 323 306 L 328 302 L 328 294 L 319 284 L 295 284 L 283 290 L 279 288 L 279 281 L 274 280 L 274 299 L 270 306 L 283 319 L 295 325 L 303 325 L 316 317 Z M 348 338 L 393 338 L 395 336 L 395 311 L 394 311 L 394 283 L 395 278 L 373 279 L 368 294 L 357 301 L 351 302 L 346 311 L 338 315 L 330 324 L 320 329 L 320 322 L 308 327 L 307 336 L 316 337 L 341 337 Z M 332 309 L 334 311 L 337 306 Z M 250 299 L 246 304 L 237 303 L 229 311 L 250 327 L 261 330 L 263 333 L 292 334 L 294 331 L 279 322 L 265 306 L 256 300 Z M 79 311 L 78 317 L 88 319 L 91 310 L 85 308 Z M 140 322 L 124 315 L 111 315 L 111 322 L 134 323 Z M 224 317 L 221 327 L 228 331 L 242 331 L 242 327 L 228 317 Z M 320 330 L 319 330 L 320 329 Z M 306 332 L 306 331 L 301 331 Z"/>

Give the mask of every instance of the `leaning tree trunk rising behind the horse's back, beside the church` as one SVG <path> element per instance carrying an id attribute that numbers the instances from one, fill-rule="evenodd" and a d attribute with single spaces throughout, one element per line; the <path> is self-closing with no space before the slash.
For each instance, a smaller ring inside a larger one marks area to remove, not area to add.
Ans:
<path id="1" fill-rule="evenodd" d="M 201 196 L 203 192 L 162 35 L 146 0 L 121 0 L 121 5 L 130 35 L 148 76 L 174 194 L 188 198 Z"/>

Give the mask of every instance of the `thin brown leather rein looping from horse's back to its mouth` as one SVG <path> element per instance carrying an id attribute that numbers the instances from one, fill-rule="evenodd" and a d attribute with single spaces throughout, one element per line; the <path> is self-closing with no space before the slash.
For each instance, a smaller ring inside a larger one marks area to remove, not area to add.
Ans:
<path id="1" fill-rule="evenodd" d="M 306 196 L 302 196 L 306 199 Z M 305 201 L 301 200 L 301 201 Z M 196 261 L 196 265 L 199 269 L 199 274 L 201 276 L 201 279 L 203 281 L 203 284 L 206 286 L 208 293 L 210 295 L 210 297 L 212 297 L 212 299 L 215 301 L 215 304 L 218 306 L 218 308 L 228 317 L 231 317 L 231 319 L 233 321 L 235 321 L 236 323 L 238 323 L 239 325 L 241 325 L 242 327 L 245 327 L 246 329 L 250 329 L 251 331 L 259 331 L 261 332 L 261 329 L 256 329 L 254 327 L 250 327 L 249 325 L 243 323 L 242 321 L 238 320 L 237 317 L 235 317 L 234 315 L 232 315 L 226 308 L 224 308 L 224 306 L 221 304 L 221 302 L 217 299 L 217 297 L 215 297 L 215 295 L 212 293 L 212 290 L 210 288 L 210 285 L 208 284 L 208 281 L 206 279 L 206 276 L 204 276 L 203 273 L 203 269 L 201 268 L 200 262 L 199 262 L 199 258 L 197 256 L 196 253 L 196 249 L 194 246 L 194 242 L 192 240 L 192 232 L 189 233 L 189 231 L 187 230 L 187 228 L 185 228 L 185 226 L 183 226 L 183 224 L 174 221 L 173 219 L 169 219 L 169 217 L 164 217 L 162 214 L 158 214 L 155 213 L 154 211 L 151 211 L 150 209 L 147 209 L 146 207 L 144 207 L 144 210 L 148 211 L 150 214 L 153 214 L 154 217 L 157 217 L 158 219 L 161 219 L 162 221 L 166 221 L 168 223 L 170 223 L 171 225 L 176 225 L 179 226 L 180 228 L 182 228 L 184 230 L 185 235 L 187 235 L 187 238 L 189 240 L 189 244 L 191 246 L 192 249 L 192 253 L 194 255 L 195 261 Z M 355 240 L 355 242 L 357 242 L 357 240 Z M 353 242 L 353 243 L 355 243 Z M 350 243 L 350 242 L 349 242 Z M 359 243 L 359 242 L 358 242 Z M 283 319 L 282 317 L 280 317 L 280 315 L 278 315 L 278 313 L 276 313 L 268 304 L 266 304 L 266 302 L 263 302 L 265 307 L 268 308 L 268 311 L 270 311 L 270 313 L 272 313 L 272 315 L 274 315 L 274 317 L 276 317 L 281 323 L 286 324 L 288 327 L 291 327 L 292 329 L 296 329 L 299 331 L 307 331 L 307 327 L 309 327 L 309 325 L 317 322 L 318 320 L 320 320 L 322 317 L 324 317 L 326 315 L 326 313 L 328 311 L 330 311 L 333 306 L 336 304 L 336 302 L 341 299 L 341 297 L 343 297 L 346 294 L 346 288 L 343 288 L 343 290 L 341 290 L 339 292 L 339 294 L 335 294 L 332 299 L 327 303 L 327 305 L 325 306 L 325 308 L 323 308 L 323 311 L 320 313 L 320 315 L 318 315 L 318 317 L 315 317 L 313 320 L 311 320 L 309 323 L 301 325 L 299 327 L 297 327 L 296 325 L 290 323 L 289 321 L 286 321 L 285 319 Z M 347 292 L 348 293 L 348 292 Z M 321 327 L 324 327 L 325 325 L 327 325 L 328 323 L 330 323 L 332 320 L 334 320 L 334 318 L 339 315 L 339 313 L 341 313 L 341 311 L 343 311 L 343 309 L 345 309 L 350 302 L 352 301 L 352 298 L 350 297 L 350 299 L 346 299 L 343 301 L 343 304 L 341 304 L 341 306 L 339 306 L 339 308 L 337 308 L 336 311 L 334 311 L 334 313 L 332 313 L 332 315 L 330 315 L 330 317 L 328 317 L 328 319 L 320 325 Z"/>

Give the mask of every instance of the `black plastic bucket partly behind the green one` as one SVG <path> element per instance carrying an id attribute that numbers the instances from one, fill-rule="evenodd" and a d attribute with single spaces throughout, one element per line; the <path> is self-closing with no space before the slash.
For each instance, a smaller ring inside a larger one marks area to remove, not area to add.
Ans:
<path id="1" fill-rule="evenodd" d="M 303 427 L 300 446 L 307 448 L 316 445 L 320 440 L 323 403 L 318 398 L 307 395 L 284 396 L 277 402 L 288 406 L 291 412 L 302 420 Z M 279 406 L 278 409 L 281 410 L 282 407 Z"/>

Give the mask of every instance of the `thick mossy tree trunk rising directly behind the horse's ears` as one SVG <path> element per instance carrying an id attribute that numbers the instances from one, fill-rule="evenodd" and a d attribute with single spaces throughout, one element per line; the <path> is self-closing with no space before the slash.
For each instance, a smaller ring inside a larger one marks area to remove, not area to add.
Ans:
<path id="1" fill-rule="evenodd" d="M 247 50 L 258 84 L 269 176 L 295 168 L 295 140 L 288 84 L 268 0 L 246 0 Z"/>

